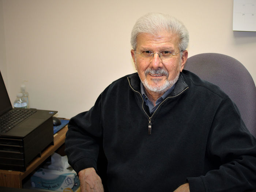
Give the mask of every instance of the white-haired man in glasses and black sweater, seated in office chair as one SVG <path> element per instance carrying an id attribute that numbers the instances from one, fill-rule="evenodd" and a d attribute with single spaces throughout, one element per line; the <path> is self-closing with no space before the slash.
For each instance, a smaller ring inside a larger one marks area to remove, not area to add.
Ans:
<path id="1" fill-rule="evenodd" d="M 138 73 L 114 81 L 69 123 L 65 151 L 82 192 L 256 188 L 256 139 L 225 93 L 183 70 L 188 39 L 168 15 L 136 22 Z"/>

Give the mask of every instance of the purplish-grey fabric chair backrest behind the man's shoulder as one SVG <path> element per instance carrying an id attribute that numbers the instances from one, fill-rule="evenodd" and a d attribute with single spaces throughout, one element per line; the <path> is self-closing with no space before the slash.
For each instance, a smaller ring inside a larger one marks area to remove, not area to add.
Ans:
<path id="1" fill-rule="evenodd" d="M 219 86 L 229 95 L 246 127 L 256 137 L 256 87 L 244 65 L 224 54 L 202 53 L 189 57 L 184 69 Z"/>

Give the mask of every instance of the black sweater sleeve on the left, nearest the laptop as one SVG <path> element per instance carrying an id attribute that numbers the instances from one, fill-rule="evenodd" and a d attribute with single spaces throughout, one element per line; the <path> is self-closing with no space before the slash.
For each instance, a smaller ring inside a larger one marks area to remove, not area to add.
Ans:
<path id="1" fill-rule="evenodd" d="M 89 167 L 94 167 L 97 171 L 97 159 L 103 134 L 100 119 L 101 95 L 88 112 L 80 113 L 69 121 L 65 153 L 69 165 L 76 173 Z"/>

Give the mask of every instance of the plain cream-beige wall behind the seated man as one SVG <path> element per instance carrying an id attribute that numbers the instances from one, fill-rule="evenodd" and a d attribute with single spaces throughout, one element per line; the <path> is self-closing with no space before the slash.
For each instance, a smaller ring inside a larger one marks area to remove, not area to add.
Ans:
<path id="1" fill-rule="evenodd" d="M 189 56 L 233 56 L 256 80 L 256 32 L 232 31 L 233 0 L 0 0 L 0 69 L 11 101 L 27 80 L 32 108 L 66 118 L 89 110 L 108 84 L 135 72 L 130 33 L 147 12 L 187 26 Z"/>

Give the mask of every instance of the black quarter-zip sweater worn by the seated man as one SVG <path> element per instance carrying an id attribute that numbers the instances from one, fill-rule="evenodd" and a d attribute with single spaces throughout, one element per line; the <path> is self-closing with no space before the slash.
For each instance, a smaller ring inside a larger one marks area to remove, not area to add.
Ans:
<path id="1" fill-rule="evenodd" d="M 135 73 L 110 84 L 68 127 L 65 152 L 77 173 L 100 172 L 105 154 L 105 191 L 169 192 L 185 182 L 191 192 L 256 188 L 256 139 L 236 105 L 186 70 L 153 114 Z"/>

